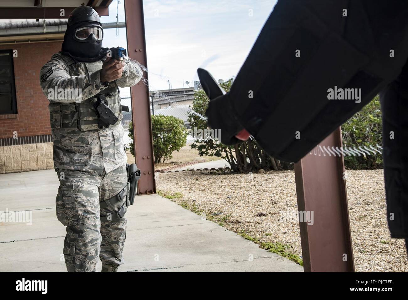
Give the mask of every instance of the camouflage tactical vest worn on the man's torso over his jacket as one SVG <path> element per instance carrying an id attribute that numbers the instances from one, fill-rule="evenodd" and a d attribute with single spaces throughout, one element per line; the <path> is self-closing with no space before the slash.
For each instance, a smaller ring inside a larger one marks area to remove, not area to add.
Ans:
<path id="1" fill-rule="evenodd" d="M 59 54 L 59 53 L 58 53 Z M 75 61 L 69 56 L 59 55 L 69 68 L 70 76 L 85 75 L 86 73 L 93 73 L 102 68 L 102 61 L 97 62 L 79 62 Z M 109 82 L 108 87 L 103 89 L 95 96 L 82 100 L 79 103 L 61 103 L 50 100 L 49 111 L 52 129 L 60 128 L 78 128 L 81 131 L 89 131 L 101 128 L 98 125 L 98 114 L 93 104 L 100 96 L 106 97 L 105 104 L 118 117 L 118 122 L 107 127 L 116 126 L 122 121 L 122 107 L 120 104 L 120 94 L 118 86 L 114 81 Z"/>

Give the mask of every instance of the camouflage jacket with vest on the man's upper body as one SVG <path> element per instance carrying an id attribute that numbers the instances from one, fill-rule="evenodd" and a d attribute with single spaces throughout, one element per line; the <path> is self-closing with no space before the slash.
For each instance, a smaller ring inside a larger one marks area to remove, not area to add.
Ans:
<path id="1" fill-rule="evenodd" d="M 40 84 L 50 100 L 54 168 L 107 173 L 126 164 L 118 87 L 132 87 L 143 73 L 137 64 L 124 62 L 122 77 L 107 86 L 100 82 L 102 61 L 77 63 L 58 52 L 42 67 Z M 94 124 L 95 111 L 90 108 L 99 95 L 106 96 L 119 118 L 111 127 Z"/>

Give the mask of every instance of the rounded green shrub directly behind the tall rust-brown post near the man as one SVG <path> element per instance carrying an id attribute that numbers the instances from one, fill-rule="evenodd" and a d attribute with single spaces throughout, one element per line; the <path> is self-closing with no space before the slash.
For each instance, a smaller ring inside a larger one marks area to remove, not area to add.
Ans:
<path id="1" fill-rule="evenodd" d="M 151 116 L 153 152 L 155 164 L 171 159 L 173 151 L 179 151 L 186 144 L 187 131 L 183 120 L 173 116 Z M 133 124 L 129 123 L 129 137 L 133 139 Z M 134 155 L 134 143 L 131 142 L 129 151 Z"/>

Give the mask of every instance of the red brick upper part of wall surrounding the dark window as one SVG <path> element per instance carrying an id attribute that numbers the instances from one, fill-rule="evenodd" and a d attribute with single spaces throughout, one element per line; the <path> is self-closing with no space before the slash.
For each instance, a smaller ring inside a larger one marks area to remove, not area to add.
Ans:
<path id="1" fill-rule="evenodd" d="M 16 82 L 17 115 L 0 115 L 0 138 L 50 134 L 48 99 L 40 88 L 40 69 L 61 50 L 62 42 L 0 45 L 1 50 L 16 49 L 13 58 Z"/>

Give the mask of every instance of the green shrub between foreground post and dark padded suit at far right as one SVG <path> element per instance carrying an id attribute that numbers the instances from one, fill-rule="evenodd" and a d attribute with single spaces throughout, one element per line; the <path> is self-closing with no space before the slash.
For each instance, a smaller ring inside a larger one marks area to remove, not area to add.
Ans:
<path id="1" fill-rule="evenodd" d="M 382 144 L 381 107 L 376 96 L 361 111 L 341 125 L 343 147 Z M 381 155 L 344 156 L 346 169 L 382 169 Z"/>

